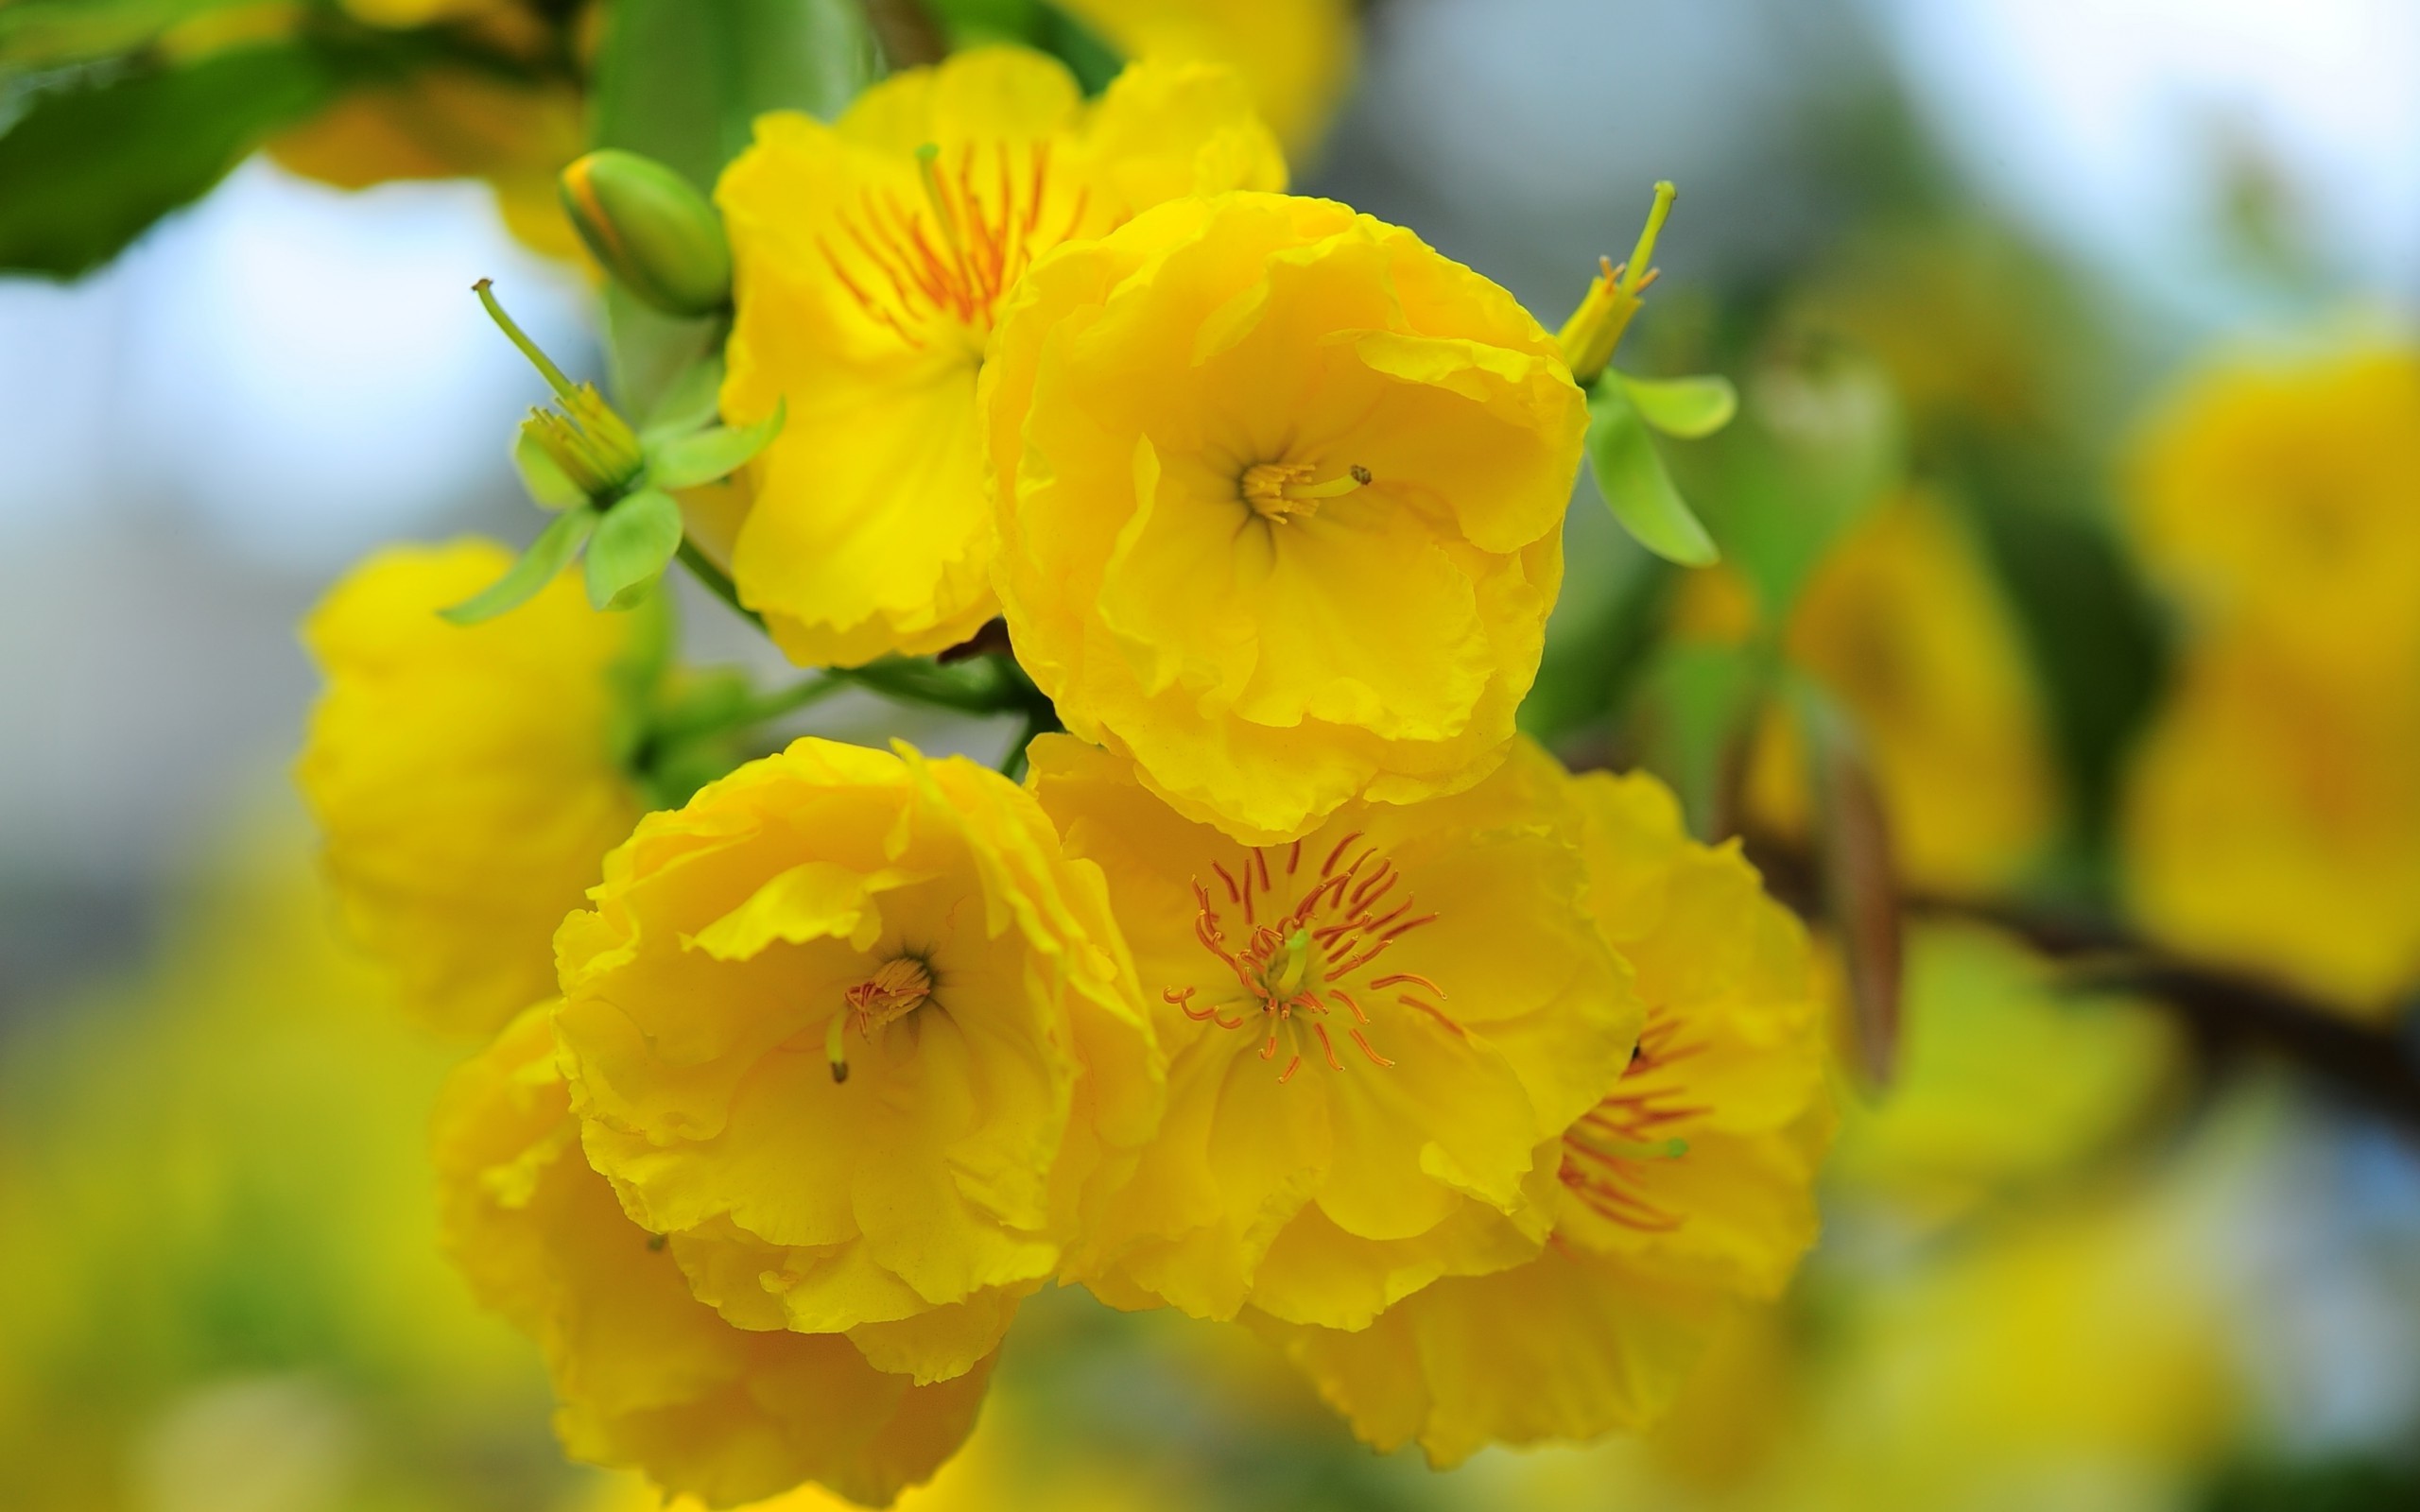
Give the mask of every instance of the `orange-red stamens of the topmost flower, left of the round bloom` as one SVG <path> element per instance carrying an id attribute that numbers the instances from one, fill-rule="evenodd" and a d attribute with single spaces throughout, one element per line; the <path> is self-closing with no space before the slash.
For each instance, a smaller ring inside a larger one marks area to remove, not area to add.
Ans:
<path id="1" fill-rule="evenodd" d="M 922 196 L 864 189 L 837 215 L 835 237 L 816 237 L 857 307 L 912 348 L 924 348 L 951 324 L 975 353 L 992 329 L 999 298 L 1026 266 L 1084 223 L 1089 191 L 1077 189 L 1065 225 L 1043 230 L 1050 191 L 1050 143 L 1019 150 L 973 143 L 953 165 L 924 143 L 917 150 Z M 1053 218 L 1055 220 L 1055 218 Z"/>

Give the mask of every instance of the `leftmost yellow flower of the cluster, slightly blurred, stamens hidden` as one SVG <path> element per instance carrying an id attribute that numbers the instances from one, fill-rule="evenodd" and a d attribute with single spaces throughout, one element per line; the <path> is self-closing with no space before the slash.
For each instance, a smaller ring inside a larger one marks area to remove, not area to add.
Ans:
<path id="1" fill-rule="evenodd" d="M 477 627 L 438 610 L 511 564 L 494 542 L 390 547 L 302 627 L 327 677 L 295 764 L 353 936 L 414 1016 L 491 1033 L 554 989 L 547 941 L 639 818 L 607 668 L 634 619 L 574 578 Z"/>

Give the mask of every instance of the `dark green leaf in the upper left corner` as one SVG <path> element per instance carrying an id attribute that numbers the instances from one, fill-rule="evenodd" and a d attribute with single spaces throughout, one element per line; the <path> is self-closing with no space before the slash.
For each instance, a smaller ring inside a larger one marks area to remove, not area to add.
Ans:
<path id="1" fill-rule="evenodd" d="M 102 266 L 334 90 L 319 56 L 273 44 L 36 94 L 0 135 L 0 271 Z"/>

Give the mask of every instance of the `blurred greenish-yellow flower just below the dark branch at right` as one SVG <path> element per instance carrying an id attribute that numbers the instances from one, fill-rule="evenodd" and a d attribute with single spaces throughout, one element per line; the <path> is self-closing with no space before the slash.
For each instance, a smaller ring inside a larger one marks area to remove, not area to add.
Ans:
<path id="1" fill-rule="evenodd" d="M 1830 1176 L 1917 1224 L 2047 1190 L 2144 1127 L 2180 1052 L 2159 1009 L 2081 994 L 1999 931 L 1921 924 L 1897 1074 L 1851 1103 Z"/>

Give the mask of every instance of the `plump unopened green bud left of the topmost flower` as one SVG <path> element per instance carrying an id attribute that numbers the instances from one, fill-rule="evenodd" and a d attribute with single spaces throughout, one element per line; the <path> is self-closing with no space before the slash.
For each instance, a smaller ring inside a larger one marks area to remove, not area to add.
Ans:
<path id="1" fill-rule="evenodd" d="M 561 174 L 564 210 L 615 283 L 666 314 L 731 300 L 731 242 L 707 196 L 678 172 L 605 148 Z"/>

